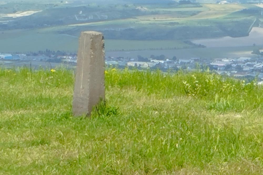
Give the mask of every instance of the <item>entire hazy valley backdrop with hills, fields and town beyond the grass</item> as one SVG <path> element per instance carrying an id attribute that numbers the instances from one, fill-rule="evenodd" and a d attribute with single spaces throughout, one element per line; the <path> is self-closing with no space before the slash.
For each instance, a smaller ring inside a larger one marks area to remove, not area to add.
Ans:
<path id="1" fill-rule="evenodd" d="M 107 65 L 178 70 L 194 69 L 198 62 L 231 74 L 237 72 L 231 67 L 241 58 L 244 64 L 254 64 L 239 65 L 239 74 L 252 75 L 252 68 L 262 62 L 262 0 L 2 0 L 0 4 L 0 64 L 5 66 L 28 61 L 74 66 L 80 32 L 89 30 L 104 34 Z M 8 56 L 12 59 L 6 60 Z M 227 61 L 220 68 L 223 59 Z"/>

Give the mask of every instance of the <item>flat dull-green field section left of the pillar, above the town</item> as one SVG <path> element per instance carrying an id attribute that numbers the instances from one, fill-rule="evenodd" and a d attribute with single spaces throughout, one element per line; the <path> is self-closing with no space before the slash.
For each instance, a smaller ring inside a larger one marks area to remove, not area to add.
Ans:
<path id="1" fill-rule="evenodd" d="M 54 33 L 37 33 L 36 30 L 0 33 L 0 52 L 37 52 L 45 49 L 76 52 L 78 38 Z"/>

